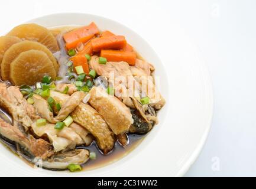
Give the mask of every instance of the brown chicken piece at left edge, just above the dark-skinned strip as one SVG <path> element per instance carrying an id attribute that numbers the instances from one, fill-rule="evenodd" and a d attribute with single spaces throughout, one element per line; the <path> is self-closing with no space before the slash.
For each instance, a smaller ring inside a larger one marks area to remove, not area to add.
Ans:
<path id="1" fill-rule="evenodd" d="M 5 138 L 17 142 L 34 157 L 46 159 L 53 155 L 51 145 L 43 139 L 34 139 L 33 136 L 25 136 L 18 128 L 10 125 L 0 118 L 0 133 Z"/>

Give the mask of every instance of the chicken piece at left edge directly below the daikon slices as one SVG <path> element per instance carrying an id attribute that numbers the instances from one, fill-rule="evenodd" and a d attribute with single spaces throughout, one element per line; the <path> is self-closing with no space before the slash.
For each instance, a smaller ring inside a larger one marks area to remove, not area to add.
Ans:
<path id="1" fill-rule="evenodd" d="M 15 126 L 20 122 L 26 130 L 33 123 L 33 119 L 38 118 L 34 107 L 27 103 L 15 86 L 8 87 L 7 84 L 0 83 L 0 106 L 12 115 Z"/>

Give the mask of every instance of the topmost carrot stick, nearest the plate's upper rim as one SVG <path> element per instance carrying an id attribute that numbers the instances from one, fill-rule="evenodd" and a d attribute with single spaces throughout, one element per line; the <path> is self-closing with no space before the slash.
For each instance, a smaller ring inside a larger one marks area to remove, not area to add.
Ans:
<path id="1" fill-rule="evenodd" d="M 88 35 L 96 35 L 99 34 L 98 27 L 94 22 L 89 25 L 78 28 L 76 30 L 72 30 L 63 35 L 63 38 L 66 43 L 72 43 L 74 41 L 79 40 L 80 38 L 87 37 Z"/>

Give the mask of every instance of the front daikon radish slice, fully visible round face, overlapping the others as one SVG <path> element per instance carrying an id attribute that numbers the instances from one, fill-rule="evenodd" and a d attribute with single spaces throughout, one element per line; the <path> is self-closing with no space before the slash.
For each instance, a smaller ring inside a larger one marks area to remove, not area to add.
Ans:
<path id="1" fill-rule="evenodd" d="M 53 63 L 43 51 L 25 51 L 11 63 L 11 82 L 17 86 L 34 85 L 40 82 L 46 74 L 53 80 L 56 79 Z"/>

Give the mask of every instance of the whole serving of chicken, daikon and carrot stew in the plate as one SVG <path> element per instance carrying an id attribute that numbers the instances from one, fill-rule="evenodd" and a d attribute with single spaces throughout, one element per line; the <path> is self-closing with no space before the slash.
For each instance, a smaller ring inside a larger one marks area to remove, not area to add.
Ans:
<path id="1" fill-rule="evenodd" d="M 0 37 L 0 139 L 25 161 L 79 171 L 112 162 L 158 123 L 154 66 L 125 36 L 23 24 Z"/>

